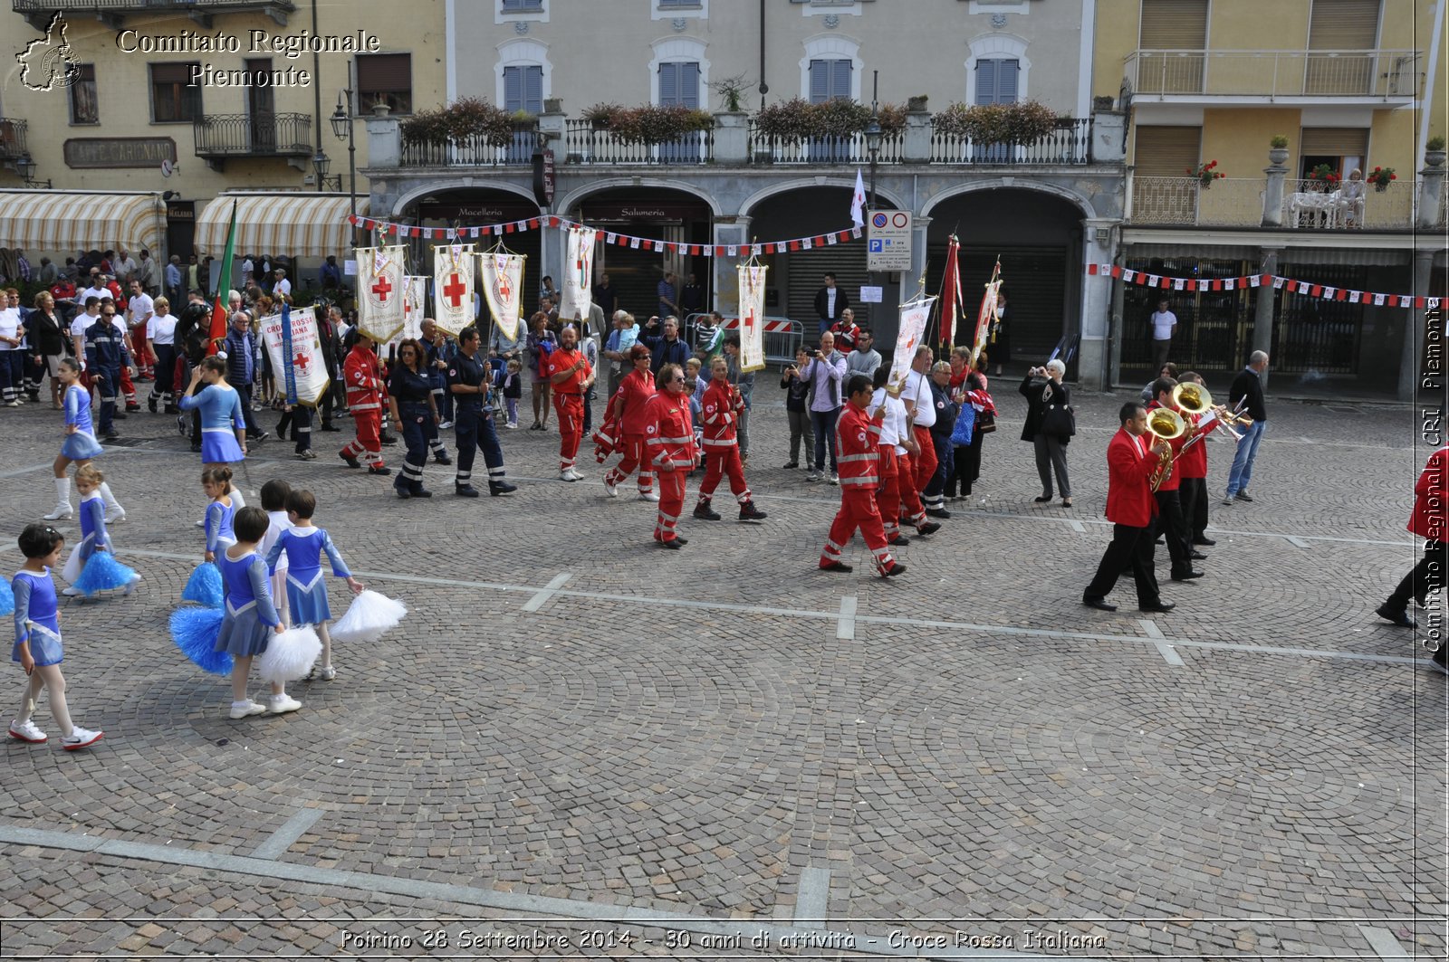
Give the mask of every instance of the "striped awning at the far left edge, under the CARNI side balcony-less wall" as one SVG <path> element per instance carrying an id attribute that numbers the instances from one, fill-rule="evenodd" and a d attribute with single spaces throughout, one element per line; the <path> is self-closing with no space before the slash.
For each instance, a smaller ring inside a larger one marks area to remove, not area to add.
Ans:
<path id="1" fill-rule="evenodd" d="M 161 194 L 0 190 L 0 248 L 25 251 L 161 251 Z"/>

